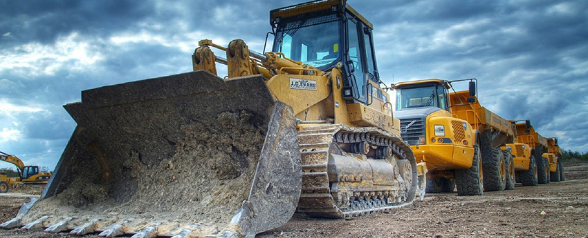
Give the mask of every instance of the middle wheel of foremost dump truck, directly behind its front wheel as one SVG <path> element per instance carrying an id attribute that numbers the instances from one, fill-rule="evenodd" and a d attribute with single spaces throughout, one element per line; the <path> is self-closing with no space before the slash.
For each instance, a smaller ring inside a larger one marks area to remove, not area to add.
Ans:
<path id="1" fill-rule="evenodd" d="M 500 149 L 492 149 L 492 158 L 484 159 L 482 154 L 482 169 L 484 171 L 484 190 L 500 191 L 506 187 L 506 164 Z"/>

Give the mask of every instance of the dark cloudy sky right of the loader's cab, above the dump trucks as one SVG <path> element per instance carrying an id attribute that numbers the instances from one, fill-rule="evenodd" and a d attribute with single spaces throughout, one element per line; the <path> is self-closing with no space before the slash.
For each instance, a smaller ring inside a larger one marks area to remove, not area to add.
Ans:
<path id="1" fill-rule="evenodd" d="M 369 12 L 386 82 L 475 77 L 482 106 L 531 119 L 546 137 L 580 137 L 560 144 L 588 150 L 576 116 L 588 109 L 587 1 L 350 3 Z"/>

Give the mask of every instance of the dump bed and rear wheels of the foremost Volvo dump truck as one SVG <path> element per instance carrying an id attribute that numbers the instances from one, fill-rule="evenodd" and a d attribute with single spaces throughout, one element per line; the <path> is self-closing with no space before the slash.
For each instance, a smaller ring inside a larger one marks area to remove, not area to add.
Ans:
<path id="1" fill-rule="evenodd" d="M 468 97 L 475 102 L 463 103 Z M 480 105 L 477 97 L 468 91 L 449 95 L 453 117 L 468 121 L 479 132 L 479 149 L 484 174 L 484 191 L 511 190 L 515 188 L 515 168 L 511 152 L 502 150 L 506 142 L 515 137 L 513 125 Z"/>

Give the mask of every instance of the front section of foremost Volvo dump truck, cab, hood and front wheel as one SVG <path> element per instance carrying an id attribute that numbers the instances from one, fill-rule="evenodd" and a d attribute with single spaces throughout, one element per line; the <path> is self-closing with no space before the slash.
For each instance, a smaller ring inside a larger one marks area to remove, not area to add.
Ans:
<path id="1" fill-rule="evenodd" d="M 428 168 L 427 192 L 452 192 L 457 187 L 458 195 L 481 195 L 479 132 L 468 121 L 454 117 L 457 105 L 449 101 L 450 83 L 441 79 L 396 83 L 394 116 L 401 121 L 401 135 L 416 161 L 425 162 Z M 475 95 L 475 82 L 470 95 Z"/>

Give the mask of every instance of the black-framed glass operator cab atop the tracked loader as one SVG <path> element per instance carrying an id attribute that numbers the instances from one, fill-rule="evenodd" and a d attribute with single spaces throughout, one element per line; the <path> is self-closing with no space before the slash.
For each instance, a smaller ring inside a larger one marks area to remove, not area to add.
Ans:
<path id="1" fill-rule="evenodd" d="M 312 1 L 270 12 L 275 31 L 273 52 L 344 75 L 343 98 L 347 103 L 371 103 L 369 81 L 380 83 L 374 56 L 371 23 L 344 0 Z"/>

